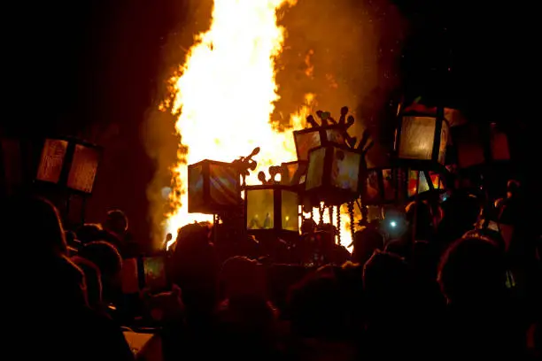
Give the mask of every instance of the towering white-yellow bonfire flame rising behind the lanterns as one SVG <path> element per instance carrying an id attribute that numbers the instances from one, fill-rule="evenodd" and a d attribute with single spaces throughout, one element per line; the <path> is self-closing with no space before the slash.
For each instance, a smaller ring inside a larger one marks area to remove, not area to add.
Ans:
<path id="1" fill-rule="evenodd" d="M 291 132 L 279 132 L 270 123 L 279 99 L 275 58 L 284 41 L 277 11 L 296 2 L 214 0 L 211 27 L 197 35 L 179 75 L 172 79 L 172 111 L 179 114 L 175 128 L 181 145 L 170 196 L 174 212 L 166 220 L 169 233 L 212 219 L 188 213 L 187 165 L 205 158 L 230 162 L 260 147 L 258 169 L 247 178 L 248 184 L 256 184 L 260 170 L 296 159 Z M 290 130 L 305 126 L 313 104 L 314 95 L 306 95 L 306 104 L 290 117 Z M 343 240 L 350 242 L 345 235 Z"/>

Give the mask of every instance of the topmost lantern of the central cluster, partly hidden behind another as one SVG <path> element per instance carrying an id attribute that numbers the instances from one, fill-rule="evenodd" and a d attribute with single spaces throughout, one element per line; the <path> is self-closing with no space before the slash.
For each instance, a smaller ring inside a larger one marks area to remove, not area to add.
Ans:
<path id="1" fill-rule="evenodd" d="M 309 152 L 314 148 L 335 143 L 346 143 L 345 127 L 313 127 L 293 132 L 298 160 L 308 161 Z"/>

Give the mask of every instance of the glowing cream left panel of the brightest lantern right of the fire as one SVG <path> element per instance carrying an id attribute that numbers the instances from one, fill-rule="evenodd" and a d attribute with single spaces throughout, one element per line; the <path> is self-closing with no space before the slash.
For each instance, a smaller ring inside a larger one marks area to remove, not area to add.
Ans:
<path id="1" fill-rule="evenodd" d="M 435 127 L 435 118 L 403 117 L 399 135 L 399 158 L 431 159 Z"/>

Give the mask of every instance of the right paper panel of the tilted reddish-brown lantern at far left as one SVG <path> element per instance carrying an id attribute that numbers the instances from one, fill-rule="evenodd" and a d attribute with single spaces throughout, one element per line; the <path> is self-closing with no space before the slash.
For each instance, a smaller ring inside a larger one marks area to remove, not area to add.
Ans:
<path id="1" fill-rule="evenodd" d="M 99 152 L 96 148 L 75 144 L 74 157 L 68 173 L 67 186 L 84 193 L 92 193 L 96 179 Z"/>

